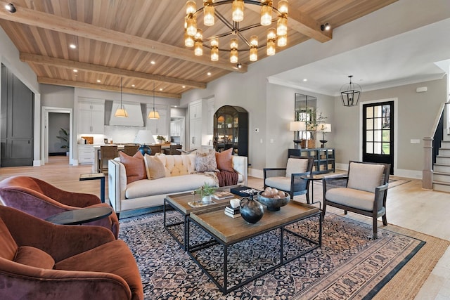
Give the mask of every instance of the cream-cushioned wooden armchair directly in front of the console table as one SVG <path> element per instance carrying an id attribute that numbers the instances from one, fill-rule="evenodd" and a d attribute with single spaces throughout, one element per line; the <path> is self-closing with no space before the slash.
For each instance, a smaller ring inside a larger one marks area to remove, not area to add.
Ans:
<path id="1" fill-rule="evenodd" d="M 306 194 L 309 203 L 309 181 L 300 177 L 311 175 L 313 165 L 314 157 L 290 157 L 285 168 L 264 168 L 264 188 L 283 190 L 291 199 Z"/>

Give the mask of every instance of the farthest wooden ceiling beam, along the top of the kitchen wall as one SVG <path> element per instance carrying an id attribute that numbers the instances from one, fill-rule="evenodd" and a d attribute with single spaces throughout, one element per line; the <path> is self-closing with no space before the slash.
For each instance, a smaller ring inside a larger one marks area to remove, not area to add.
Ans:
<path id="1" fill-rule="evenodd" d="M 96 89 L 96 90 L 102 90 L 102 91 L 120 92 L 120 86 L 106 86 L 103 84 L 89 84 L 87 82 L 63 80 L 63 79 L 53 79 L 53 78 L 49 78 L 49 77 L 37 77 L 37 82 L 39 82 L 39 84 L 53 84 L 56 86 L 73 86 L 73 87 L 84 88 L 84 89 Z M 140 90 L 140 89 L 122 88 L 122 92 L 153 96 L 153 91 L 146 91 L 146 90 Z M 155 96 L 181 99 L 181 94 L 179 94 L 179 93 L 162 93 L 159 91 L 155 91 Z"/>

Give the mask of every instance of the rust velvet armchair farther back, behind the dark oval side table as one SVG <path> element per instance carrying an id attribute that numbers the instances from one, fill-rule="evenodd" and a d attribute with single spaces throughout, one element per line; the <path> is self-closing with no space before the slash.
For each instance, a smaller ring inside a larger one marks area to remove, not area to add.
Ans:
<path id="1" fill-rule="evenodd" d="M 109 207 L 96 195 L 60 190 L 29 176 L 12 176 L 0 181 L 0 204 L 25 211 L 39 219 L 85 207 Z M 116 238 L 119 236 L 119 220 L 114 211 L 106 218 L 83 225 L 103 226 L 113 232 Z"/>

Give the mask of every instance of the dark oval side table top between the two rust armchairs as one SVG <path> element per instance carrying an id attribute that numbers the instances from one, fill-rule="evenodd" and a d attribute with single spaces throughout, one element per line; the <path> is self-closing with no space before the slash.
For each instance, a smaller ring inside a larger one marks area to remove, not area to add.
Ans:
<path id="1" fill-rule="evenodd" d="M 57 225 L 80 225 L 103 219 L 110 214 L 113 214 L 111 207 L 88 207 L 85 209 L 63 211 L 60 214 L 49 216 L 45 220 Z"/>

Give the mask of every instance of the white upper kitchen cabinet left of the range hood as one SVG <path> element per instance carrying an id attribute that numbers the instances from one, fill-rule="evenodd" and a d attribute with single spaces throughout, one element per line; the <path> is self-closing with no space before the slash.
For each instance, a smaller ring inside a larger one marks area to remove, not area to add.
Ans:
<path id="1" fill-rule="evenodd" d="M 92 100 L 78 101 L 78 133 L 103 134 L 105 105 Z"/>

